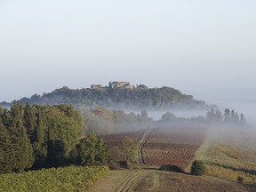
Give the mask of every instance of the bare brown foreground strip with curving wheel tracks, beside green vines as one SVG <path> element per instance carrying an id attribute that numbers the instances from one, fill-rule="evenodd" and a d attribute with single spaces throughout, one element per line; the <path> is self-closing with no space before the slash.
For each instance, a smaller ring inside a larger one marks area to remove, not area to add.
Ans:
<path id="1" fill-rule="evenodd" d="M 110 171 L 89 192 L 121 191 L 255 191 L 252 185 L 220 180 L 209 176 L 196 177 L 176 172 L 161 172 L 154 169 Z"/>

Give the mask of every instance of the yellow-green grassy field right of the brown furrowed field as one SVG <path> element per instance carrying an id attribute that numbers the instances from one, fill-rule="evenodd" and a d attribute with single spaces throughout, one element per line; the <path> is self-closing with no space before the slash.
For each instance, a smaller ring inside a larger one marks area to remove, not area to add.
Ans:
<path id="1" fill-rule="evenodd" d="M 204 161 L 207 174 L 221 179 L 256 183 L 256 134 L 250 129 L 218 127 L 209 130 L 196 159 Z"/>

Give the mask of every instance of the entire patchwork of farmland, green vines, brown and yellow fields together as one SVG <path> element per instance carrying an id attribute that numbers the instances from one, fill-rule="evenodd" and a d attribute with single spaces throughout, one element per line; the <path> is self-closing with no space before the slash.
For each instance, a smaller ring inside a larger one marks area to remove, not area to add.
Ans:
<path id="1" fill-rule="evenodd" d="M 108 148 L 116 148 L 126 136 L 138 146 L 136 159 L 132 159 L 135 164 L 132 170 L 70 166 L 5 174 L 0 177 L 0 191 L 40 191 L 42 188 L 49 191 L 85 189 L 89 192 L 256 190 L 256 141 L 252 130 L 175 125 L 102 138 Z M 124 156 L 119 157 L 124 160 Z M 204 161 L 207 175 L 196 177 L 158 169 L 162 164 L 172 164 L 188 172 L 194 159 Z M 238 176 L 244 178 L 244 183 L 237 183 Z"/>

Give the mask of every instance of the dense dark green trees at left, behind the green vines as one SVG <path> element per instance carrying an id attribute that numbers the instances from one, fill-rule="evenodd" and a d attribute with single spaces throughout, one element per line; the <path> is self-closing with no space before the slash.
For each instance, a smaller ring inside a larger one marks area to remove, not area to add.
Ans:
<path id="1" fill-rule="evenodd" d="M 0 173 L 108 160 L 103 140 L 86 132 L 80 111 L 70 105 L 0 108 Z"/>

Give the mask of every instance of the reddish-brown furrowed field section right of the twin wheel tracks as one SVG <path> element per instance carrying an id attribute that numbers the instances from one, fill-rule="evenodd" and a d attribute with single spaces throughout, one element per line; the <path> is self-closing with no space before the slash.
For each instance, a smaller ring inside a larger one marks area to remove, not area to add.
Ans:
<path id="1" fill-rule="evenodd" d="M 142 153 L 146 156 L 147 164 L 173 164 L 184 170 L 194 159 L 206 132 L 204 128 L 154 129 L 143 146 Z"/>

